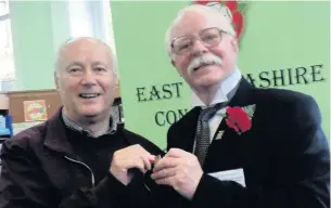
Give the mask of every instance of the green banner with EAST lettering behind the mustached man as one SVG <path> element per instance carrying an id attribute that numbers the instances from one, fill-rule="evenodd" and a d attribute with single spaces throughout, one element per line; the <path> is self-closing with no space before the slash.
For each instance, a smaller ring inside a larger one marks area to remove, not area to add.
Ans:
<path id="1" fill-rule="evenodd" d="M 171 66 L 165 32 L 191 1 L 112 1 L 125 125 L 161 147 L 191 108 L 191 90 Z M 330 2 L 240 1 L 216 9 L 240 34 L 239 68 L 255 87 L 313 95 L 330 127 Z"/>

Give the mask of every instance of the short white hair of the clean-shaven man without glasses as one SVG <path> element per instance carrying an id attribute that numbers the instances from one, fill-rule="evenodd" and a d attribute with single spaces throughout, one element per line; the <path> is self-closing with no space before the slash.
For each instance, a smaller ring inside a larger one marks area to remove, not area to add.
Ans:
<path id="1" fill-rule="evenodd" d="M 58 50 L 58 53 L 56 53 L 56 60 L 55 60 L 55 75 L 59 77 L 60 76 L 60 65 L 61 65 L 61 62 L 62 62 L 62 53 L 63 53 L 63 50 L 65 49 L 65 47 L 67 44 L 69 44 L 71 42 L 74 42 L 76 40 L 80 40 L 80 39 L 91 39 L 91 40 L 96 40 L 98 42 L 100 42 L 101 44 L 105 46 L 109 53 L 110 53 L 110 56 L 111 56 L 111 62 L 113 63 L 113 73 L 115 74 L 115 76 L 117 77 L 117 58 L 116 58 L 116 55 L 113 51 L 113 49 L 105 42 L 103 42 L 102 40 L 100 39 L 97 39 L 97 38 L 92 38 L 92 37 L 78 37 L 78 38 L 69 38 L 68 40 L 66 40 L 63 44 L 61 44 L 61 47 L 59 48 Z"/>

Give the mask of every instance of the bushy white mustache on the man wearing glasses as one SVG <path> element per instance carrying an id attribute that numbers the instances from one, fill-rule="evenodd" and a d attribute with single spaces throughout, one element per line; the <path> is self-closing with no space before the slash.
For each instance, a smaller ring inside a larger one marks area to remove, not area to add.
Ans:
<path id="1" fill-rule="evenodd" d="M 195 68 L 199 68 L 204 65 L 220 65 L 221 58 L 213 55 L 213 54 L 204 54 L 201 56 L 196 56 L 193 60 L 191 60 L 189 66 L 188 66 L 188 73 L 191 75 Z"/>

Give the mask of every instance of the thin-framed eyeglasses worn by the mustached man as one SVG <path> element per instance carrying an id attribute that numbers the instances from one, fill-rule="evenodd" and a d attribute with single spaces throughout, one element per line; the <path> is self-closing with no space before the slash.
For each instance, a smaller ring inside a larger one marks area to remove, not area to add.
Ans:
<path id="1" fill-rule="evenodd" d="M 187 35 L 175 38 L 171 42 L 171 49 L 178 55 L 189 53 L 194 47 L 195 39 L 199 39 L 205 47 L 212 48 L 221 41 L 224 34 L 231 35 L 217 27 L 206 28 L 201 30 L 198 36 Z"/>

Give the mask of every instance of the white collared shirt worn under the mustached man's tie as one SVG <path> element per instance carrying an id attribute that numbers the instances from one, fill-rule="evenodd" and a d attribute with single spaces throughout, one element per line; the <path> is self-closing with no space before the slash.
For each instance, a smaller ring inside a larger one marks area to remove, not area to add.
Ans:
<path id="1" fill-rule="evenodd" d="M 228 94 L 233 93 L 233 91 L 237 90 L 234 88 L 238 87 L 238 84 L 241 80 L 241 77 L 242 76 L 241 76 L 239 68 L 235 68 L 233 70 L 233 73 L 220 83 L 219 89 L 217 90 L 217 93 L 214 96 L 214 99 L 212 100 L 209 106 L 213 106 L 217 103 L 228 102 L 230 99 L 230 98 L 228 98 Z M 193 107 L 201 106 L 202 108 L 209 107 L 205 103 L 203 103 L 201 101 L 201 99 L 194 92 L 192 93 L 192 106 Z M 219 109 L 218 112 L 220 112 L 220 110 L 222 110 L 222 108 Z M 211 118 L 211 120 L 209 120 L 211 142 L 212 142 L 214 134 L 215 134 L 219 123 L 221 122 L 221 120 L 222 120 L 222 117 L 217 115 L 217 113 L 215 114 L 214 117 Z M 194 144 L 194 146 L 195 146 L 195 144 Z M 193 150 L 194 148 L 195 147 L 193 147 Z"/>

